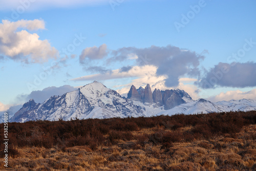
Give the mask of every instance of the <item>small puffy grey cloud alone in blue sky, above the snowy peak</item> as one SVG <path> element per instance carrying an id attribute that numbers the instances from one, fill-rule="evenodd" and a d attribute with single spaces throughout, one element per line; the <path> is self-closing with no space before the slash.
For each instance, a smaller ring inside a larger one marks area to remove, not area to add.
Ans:
<path id="1" fill-rule="evenodd" d="M 84 63 L 84 61 L 88 59 L 102 59 L 108 55 L 106 44 L 101 45 L 100 47 L 89 47 L 82 51 L 79 56 L 80 63 Z"/>

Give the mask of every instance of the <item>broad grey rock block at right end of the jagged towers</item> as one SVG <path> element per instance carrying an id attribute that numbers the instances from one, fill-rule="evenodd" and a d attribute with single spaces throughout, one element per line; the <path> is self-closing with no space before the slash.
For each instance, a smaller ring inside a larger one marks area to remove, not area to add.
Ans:
<path id="1" fill-rule="evenodd" d="M 164 109 L 172 109 L 177 105 L 183 104 L 185 101 L 180 96 L 179 92 L 174 90 L 165 90 L 163 97 Z"/>

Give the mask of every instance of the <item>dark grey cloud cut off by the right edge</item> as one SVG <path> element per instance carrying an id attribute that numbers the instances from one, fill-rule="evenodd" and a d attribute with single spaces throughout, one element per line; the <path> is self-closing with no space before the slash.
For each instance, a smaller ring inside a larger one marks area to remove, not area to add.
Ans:
<path id="1" fill-rule="evenodd" d="M 256 86 L 256 63 L 218 63 L 196 84 L 203 89 L 220 87 L 245 88 Z"/>

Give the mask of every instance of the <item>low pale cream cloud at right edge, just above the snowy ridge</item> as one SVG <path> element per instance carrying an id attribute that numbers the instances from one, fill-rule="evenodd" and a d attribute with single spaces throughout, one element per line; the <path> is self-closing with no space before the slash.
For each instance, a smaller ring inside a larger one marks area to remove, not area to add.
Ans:
<path id="1" fill-rule="evenodd" d="M 253 89 L 248 92 L 242 92 L 240 90 L 228 91 L 225 93 L 222 92 L 222 93 L 218 94 L 217 96 L 208 98 L 208 100 L 210 100 L 212 102 L 217 102 L 217 101 L 222 101 L 222 100 L 228 101 L 231 99 L 240 100 L 243 98 L 256 100 L 256 89 Z"/>

